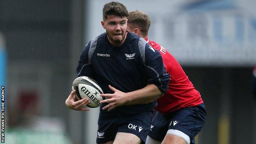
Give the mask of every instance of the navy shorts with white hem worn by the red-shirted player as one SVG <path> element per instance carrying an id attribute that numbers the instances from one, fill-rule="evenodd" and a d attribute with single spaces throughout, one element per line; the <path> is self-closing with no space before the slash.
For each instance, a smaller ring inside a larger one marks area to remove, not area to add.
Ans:
<path id="1" fill-rule="evenodd" d="M 168 130 L 174 129 L 190 137 L 190 144 L 195 144 L 194 137 L 203 128 L 206 120 L 204 104 L 195 107 L 185 107 L 163 116 L 160 112 L 153 118 L 149 137 L 162 142 Z"/>

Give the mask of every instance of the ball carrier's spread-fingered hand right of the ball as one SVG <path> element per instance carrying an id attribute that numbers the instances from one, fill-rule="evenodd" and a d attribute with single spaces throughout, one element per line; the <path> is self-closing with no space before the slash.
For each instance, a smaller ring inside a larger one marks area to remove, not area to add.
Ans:
<path id="1" fill-rule="evenodd" d="M 115 107 L 122 106 L 126 103 L 126 98 L 124 97 L 126 93 L 115 89 L 111 85 L 108 85 L 108 87 L 112 91 L 114 91 L 114 94 L 101 94 L 101 96 L 105 96 L 107 99 L 100 101 L 100 103 L 108 103 L 108 105 L 106 105 L 102 109 L 107 109 L 107 111 L 110 111 L 113 110 Z"/>

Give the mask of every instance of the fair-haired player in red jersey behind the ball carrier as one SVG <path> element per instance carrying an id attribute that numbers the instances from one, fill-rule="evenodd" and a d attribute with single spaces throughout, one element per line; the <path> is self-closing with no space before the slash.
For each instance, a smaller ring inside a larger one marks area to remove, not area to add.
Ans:
<path id="1" fill-rule="evenodd" d="M 162 55 L 171 80 L 167 92 L 158 98 L 158 111 L 153 118 L 146 144 L 195 144 L 206 119 L 206 110 L 199 91 L 188 79 L 178 61 L 164 47 L 148 39 L 151 21 L 141 11 L 130 11 L 127 30 L 144 38 Z"/>

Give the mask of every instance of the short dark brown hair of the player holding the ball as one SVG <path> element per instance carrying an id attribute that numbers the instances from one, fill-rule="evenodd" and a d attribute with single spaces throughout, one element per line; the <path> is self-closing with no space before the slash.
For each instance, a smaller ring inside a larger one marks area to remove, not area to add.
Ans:
<path id="1" fill-rule="evenodd" d="M 118 17 L 128 17 L 128 11 L 126 6 L 121 4 L 120 2 L 109 2 L 106 3 L 102 10 L 103 13 L 103 21 L 107 19 L 107 16 L 114 15 Z"/>

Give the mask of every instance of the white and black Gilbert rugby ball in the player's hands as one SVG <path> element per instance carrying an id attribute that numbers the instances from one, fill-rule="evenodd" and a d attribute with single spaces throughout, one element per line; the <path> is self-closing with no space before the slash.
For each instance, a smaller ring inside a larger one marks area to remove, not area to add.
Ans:
<path id="1" fill-rule="evenodd" d="M 103 98 L 100 94 L 103 94 L 103 90 L 95 80 L 87 76 L 80 76 L 73 81 L 72 90 L 75 90 L 75 97 L 78 100 L 89 99 L 91 103 L 87 105 L 88 107 L 93 108 L 101 105 L 100 101 Z"/>

